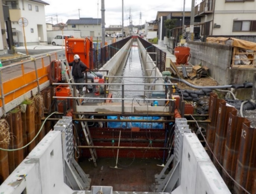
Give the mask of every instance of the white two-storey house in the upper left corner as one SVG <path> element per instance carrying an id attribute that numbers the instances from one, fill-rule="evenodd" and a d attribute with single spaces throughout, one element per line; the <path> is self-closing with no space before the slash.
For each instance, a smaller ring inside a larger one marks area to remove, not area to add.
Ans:
<path id="1" fill-rule="evenodd" d="M 4 5 L 9 6 L 13 40 L 19 45 L 24 45 L 24 35 L 21 18 L 25 18 L 24 31 L 27 45 L 47 43 L 45 10 L 49 5 L 42 0 L 2 0 Z"/>

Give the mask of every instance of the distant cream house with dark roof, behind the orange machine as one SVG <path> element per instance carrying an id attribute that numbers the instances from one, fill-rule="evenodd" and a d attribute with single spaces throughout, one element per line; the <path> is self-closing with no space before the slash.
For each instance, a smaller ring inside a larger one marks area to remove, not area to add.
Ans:
<path id="1" fill-rule="evenodd" d="M 101 18 L 69 19 L 66 24 L 68 30 L 80 30 L 81 37 L 101 37 Z"/>

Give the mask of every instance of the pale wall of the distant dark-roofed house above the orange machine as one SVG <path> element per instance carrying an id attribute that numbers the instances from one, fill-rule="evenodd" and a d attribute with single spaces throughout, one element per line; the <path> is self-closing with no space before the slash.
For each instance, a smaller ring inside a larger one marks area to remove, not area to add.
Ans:
<path id="1" fill-rule="evenodd" d="M 94 32 L 94 37 L 101 37 L 101 24 L 98 25 L 89 25 L 89 24 L 83 24 L 83 25 L 77 25 L 76 28 L 72 28 L 71 24 L 67 25 L 67 29 L 69 30 L 80 30 L 81 31 L 81 37 L 90 37 L 90 32 Z"/>

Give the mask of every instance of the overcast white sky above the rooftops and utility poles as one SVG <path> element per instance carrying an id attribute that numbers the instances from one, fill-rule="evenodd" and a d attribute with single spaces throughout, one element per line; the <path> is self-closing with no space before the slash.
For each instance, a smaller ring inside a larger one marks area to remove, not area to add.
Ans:
<path id="1" fill-rule="evenodd" d="M 47 23 L 66 23 L 68 19 L 80 17 L 101 18 L 101 0 L 44 0 L 50 5 L 45 6 Z M 200 0 L 196 0 L 197 3 Z M 133 25 L 145 24 L 155 20 L 158 11 L 183 11 L 183 0 L 124 0 L 124 26 L 129 25 L 131 9 Z M 185 10 L 191 10 L 191 0 L 186 0 Z M 58 20 L 58 21 L 57 21 Z M 122 0 L 105 0 L 105 27 L 122 23 Z"/>

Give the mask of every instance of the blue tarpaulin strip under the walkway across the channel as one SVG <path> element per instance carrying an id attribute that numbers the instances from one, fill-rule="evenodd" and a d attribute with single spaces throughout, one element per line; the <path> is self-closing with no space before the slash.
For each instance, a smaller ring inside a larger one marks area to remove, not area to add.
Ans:
<path id="1" fill-rule="evenodd" d="M 117 119 L 117 116 L 107 116 L 107 119 Z M 161 117 L 120 117 L 121 120 L 145 120 L 145 122 L 108 122 L 110 128 L 163 129 L 162 123 L 152 123 L 151 120 L 160 120 Z"/>

